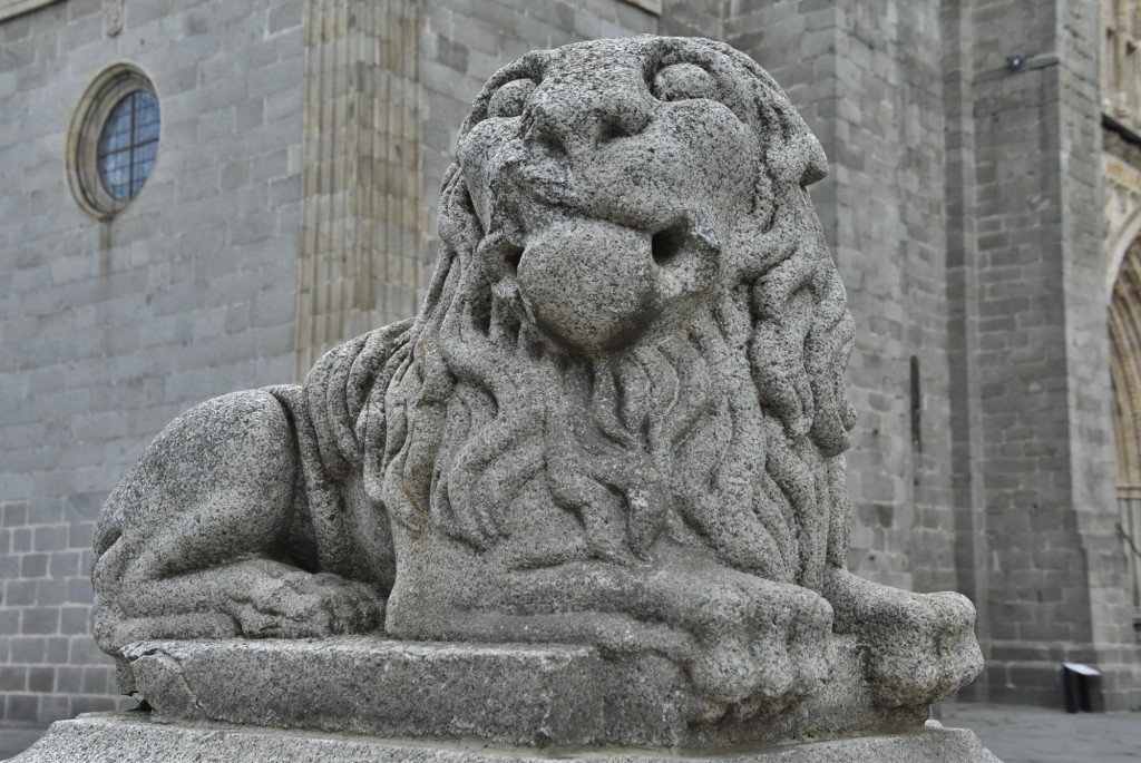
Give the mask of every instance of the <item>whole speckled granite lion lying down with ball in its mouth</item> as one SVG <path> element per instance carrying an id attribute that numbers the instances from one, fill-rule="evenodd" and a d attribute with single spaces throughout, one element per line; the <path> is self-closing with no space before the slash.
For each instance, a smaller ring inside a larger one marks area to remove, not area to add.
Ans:
<path id="1" fill-rule="evenodd" d="M 771 713 L 853 634 L 883 705 L 958 689 L 971 603 L 845 570 L 853 324 L 806 189 L 824 174 L 728 46 L 508 65 L 461 129 L 420 315 L 300 387 L 195 407 L 112 493 L 99 646 L 585 643 Z"/>

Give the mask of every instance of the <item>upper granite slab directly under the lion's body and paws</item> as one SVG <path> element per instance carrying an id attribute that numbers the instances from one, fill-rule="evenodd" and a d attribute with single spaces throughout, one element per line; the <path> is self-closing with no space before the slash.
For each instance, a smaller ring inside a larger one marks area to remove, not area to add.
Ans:
<path id="1" fill-rule="evenodd" d="M 689 748 L 923 727 L 925 706 L 876 707 L 855 639 L 836 646 L 822 691 L 779 715 L 752 717 L 695 696 L 667 659 L 608 660 L 589 647 L 354 636 L 141 642 L 123 654 L 156 722 Z"/>

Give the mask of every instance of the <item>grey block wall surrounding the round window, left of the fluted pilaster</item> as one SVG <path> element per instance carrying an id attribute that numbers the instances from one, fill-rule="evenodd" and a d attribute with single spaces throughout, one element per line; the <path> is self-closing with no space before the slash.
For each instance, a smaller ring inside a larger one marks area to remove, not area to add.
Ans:
<path id="1" fill-rule="evenodd" d="M 113 707 L 90 636 L 99 506 L 194 404 L 293 371 L 304 0 L 100 0 L 0 22 L 0 721 Z M 70 109 L 131 62 L 162 129 L 110 222 L 68 189 Z"/>

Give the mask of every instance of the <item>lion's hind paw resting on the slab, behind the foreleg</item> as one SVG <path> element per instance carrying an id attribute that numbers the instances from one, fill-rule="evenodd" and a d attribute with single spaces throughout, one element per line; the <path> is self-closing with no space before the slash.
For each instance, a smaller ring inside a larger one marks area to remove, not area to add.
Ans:
<path id="1" fill-rule="evenodd" d="M 290 570 L 266 576 L 230 614 L 251 638 L 302 639 L 380 627 L 385 601 L 367 584 L 338 575 Z"/>

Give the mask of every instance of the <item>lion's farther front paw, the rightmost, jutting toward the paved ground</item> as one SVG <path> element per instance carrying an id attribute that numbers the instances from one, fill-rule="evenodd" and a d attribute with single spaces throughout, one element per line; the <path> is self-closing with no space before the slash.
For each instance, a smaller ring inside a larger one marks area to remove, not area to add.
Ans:
<path id="1" fill-rule="evenodd" d="M 856 634 L 866 650 L 865 673 L 881 705 L 930 705 L 982 669 L 974 606 L 962 594 L 911 593 L 837 571 L 828 598 L 837 632 Z"/>

